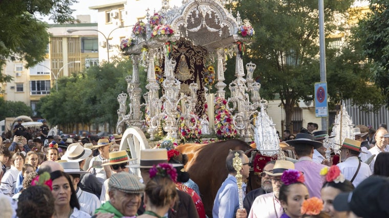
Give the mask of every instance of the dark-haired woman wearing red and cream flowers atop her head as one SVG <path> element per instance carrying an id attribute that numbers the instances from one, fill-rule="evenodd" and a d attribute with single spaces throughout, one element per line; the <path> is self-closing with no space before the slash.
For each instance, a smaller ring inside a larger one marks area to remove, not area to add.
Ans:
<path id="1" fill-rule="evenodd" d="M 333 201 L 339 193 L 354 190 L 354 185 L 349 180 L 344 179 L 337 165 L 322 168 L 320 175 L 326 177 L 326 182 L 321 188 L 321 199 L 324 202 L 323 211 L 331 217 L 347 217 L 347 212 L 339 212 L 334 209 Z"/>

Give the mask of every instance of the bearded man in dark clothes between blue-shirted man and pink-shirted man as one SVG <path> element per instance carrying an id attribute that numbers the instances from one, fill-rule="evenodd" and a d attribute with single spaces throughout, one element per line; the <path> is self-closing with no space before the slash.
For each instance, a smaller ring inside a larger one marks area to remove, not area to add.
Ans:
<path id="1" fill-rule="evenodd" d="M 270 173 L 273 172 L 274 163 L 275 161 L 272 160 L 265 164 L 264 170 L 260 174 L 261 187 L 250 191 L 246 195 L 245 199 L 243 200 L 243 207 L 246 209 L 247 212 L 250 211 L 251 205 L 254 202 L 256 197 L 273 192 L 273 186 L 271 184 L 271 176 L 266 172 L 270 172 Z"/>

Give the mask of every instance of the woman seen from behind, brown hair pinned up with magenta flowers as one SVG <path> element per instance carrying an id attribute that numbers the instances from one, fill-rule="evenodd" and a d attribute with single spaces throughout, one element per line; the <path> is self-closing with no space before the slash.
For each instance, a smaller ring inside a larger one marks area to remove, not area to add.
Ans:
<path id="1" fill-rule="evenodd" d="M 150 180 L 144 190 L 143 202 L 146 211 L 138 216 L 140 218 L 162 218 L 174 206 L 177 200 L 177 172 L 168 163 L 160 163 L 150 168 Z"/>

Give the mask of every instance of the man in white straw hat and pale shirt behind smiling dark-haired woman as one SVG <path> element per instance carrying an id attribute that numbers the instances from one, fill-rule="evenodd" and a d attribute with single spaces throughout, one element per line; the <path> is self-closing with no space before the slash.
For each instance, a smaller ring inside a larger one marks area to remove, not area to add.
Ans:
<path id="1" fill-rule="evenodd" d="M 63 167 L 63 171 L 70 175 L 72 185 L 76 190 L 78 203 L 80 203 L 80 209 L 91 216 L 95 214 L 95 210 L 101 206 L 99 199 L 92 193 L 83 191 L 78 187 L 81 175 L 89 172 L 81 171 L 77 162 L 60 162 L 59 164 Z"/>

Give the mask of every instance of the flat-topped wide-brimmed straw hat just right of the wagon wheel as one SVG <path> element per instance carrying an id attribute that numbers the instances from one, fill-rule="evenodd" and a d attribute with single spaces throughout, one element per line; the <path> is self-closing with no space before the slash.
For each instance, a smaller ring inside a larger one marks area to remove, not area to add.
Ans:
<path id="1" fill-rule="evenodd" d="M 144 149 L 140 151 L 140 163 L 130 164 L 130 168 L 152 168 L 158 163 L 167 163 L 166 149 Z M 183 166 L 183 164 L 172 163 L 174 167 Z"/>

